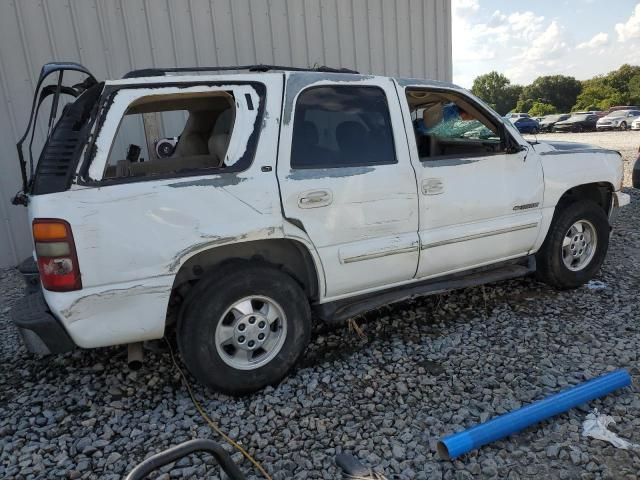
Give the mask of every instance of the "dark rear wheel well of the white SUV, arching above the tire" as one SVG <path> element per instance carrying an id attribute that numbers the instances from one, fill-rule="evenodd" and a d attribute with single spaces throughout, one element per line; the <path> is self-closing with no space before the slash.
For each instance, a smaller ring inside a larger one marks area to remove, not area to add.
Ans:
<path id="1" fill-rule="evenodd" d="M 193 286 L 217 267 L 233 261 L 267 263 L 290 275 L 307 298 L 319 296 L 318 272 L 306 246 L 296 240 L 271 239 L 234 243 L 211 248 L 189 258 L 173 282 L 167 324 L 173 323 L 183 299 Z"/>

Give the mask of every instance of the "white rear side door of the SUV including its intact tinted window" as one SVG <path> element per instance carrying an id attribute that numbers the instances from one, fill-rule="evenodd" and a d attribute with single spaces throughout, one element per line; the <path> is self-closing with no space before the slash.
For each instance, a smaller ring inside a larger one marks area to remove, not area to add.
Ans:
<path id="1" fill-rule="evenodd" d="M 292 73 L 285 88 L 282 204 L 318 251 L 325 298 L 412 279 L 418 195 L 393 84 Z"/>

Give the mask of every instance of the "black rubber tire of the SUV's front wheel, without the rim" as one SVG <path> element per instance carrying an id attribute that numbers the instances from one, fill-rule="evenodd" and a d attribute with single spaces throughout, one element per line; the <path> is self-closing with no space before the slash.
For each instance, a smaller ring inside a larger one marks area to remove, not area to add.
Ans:
<path id="1" fill-rule="evenodd" d="M 536 275 L 539 280 L 559 289 L 584 285 L 598 272 L 609 248 L 609 220 L 598 204 L 589 200 L 559 205 L 547 237 L 536 254 Z M 563 261 L 562 244 L 572 225 L 586 220 L 594 228 L 597 238 L 595 253 L 580 270 L 570 270 Z"/>

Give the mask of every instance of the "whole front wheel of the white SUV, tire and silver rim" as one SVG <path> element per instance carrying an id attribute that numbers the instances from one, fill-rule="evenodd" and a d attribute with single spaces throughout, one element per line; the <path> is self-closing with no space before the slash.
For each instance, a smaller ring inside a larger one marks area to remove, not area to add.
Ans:
<path id="1" fill-rule="evenodd" d="M 576 288 L 598 272 L 609 248 L 609 221 L 591 201 L 562 207 L 536 254 L 537 275 L 557 288 Z"/>

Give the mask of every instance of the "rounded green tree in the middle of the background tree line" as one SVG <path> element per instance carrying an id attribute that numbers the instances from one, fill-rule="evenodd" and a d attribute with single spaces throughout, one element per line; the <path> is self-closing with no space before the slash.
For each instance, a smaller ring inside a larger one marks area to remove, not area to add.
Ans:
<path id="1" fill-rule="evenodd" d="M 524 87 L 519 101 L 529 109 L 539 102 L 553 105 L 560 112 L 568 112 L 581 91 L 582 84 L 573 77 L 548 75 L 538 77 L 531 85 Z"/>

